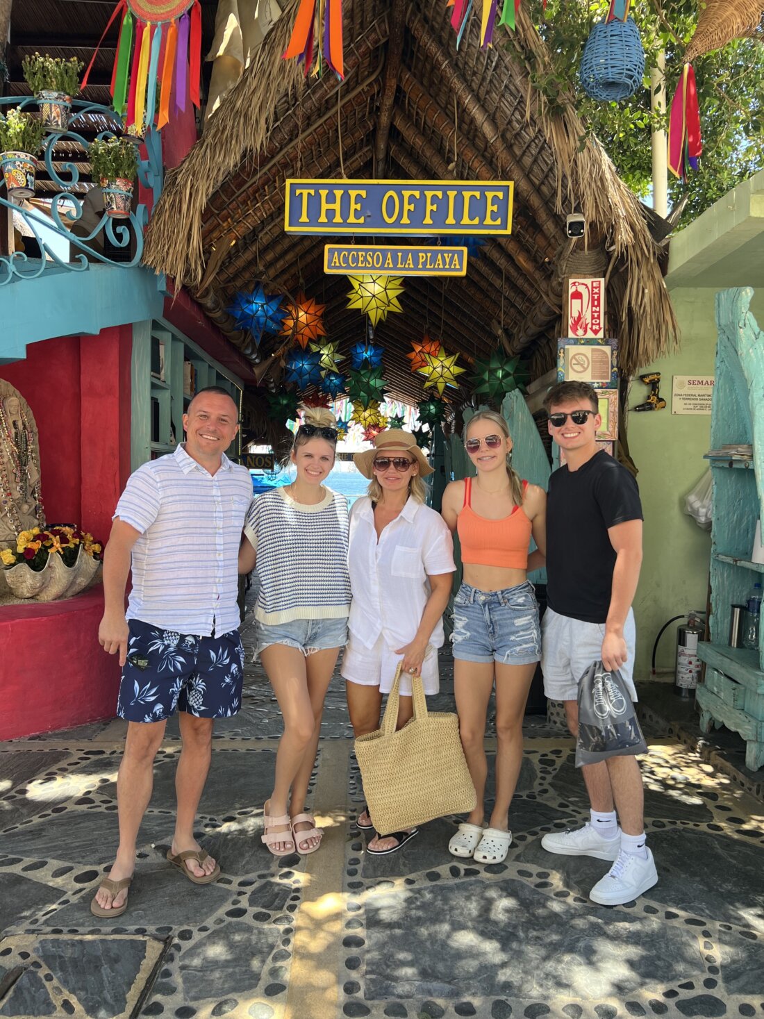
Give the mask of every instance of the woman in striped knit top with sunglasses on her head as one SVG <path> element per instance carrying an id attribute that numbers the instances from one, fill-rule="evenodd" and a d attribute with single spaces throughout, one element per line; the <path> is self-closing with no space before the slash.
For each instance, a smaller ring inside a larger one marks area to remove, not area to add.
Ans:
<path id="1" fill-rule="evenodd" d="M 347 638 L 347 503 L 323 485 L 334 466 L 336 420 L 303 409 L 289 461 L 290 485 L 253 500 L 239 550 L 239 573 L 257 559 L 255 609 L 260 655 L 284 718 L 263 842 L 274 854 L 315 852 L 322 830 L 305 812 L 324 698 Z"/>

